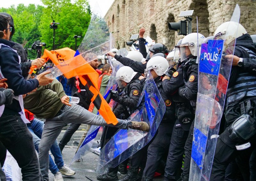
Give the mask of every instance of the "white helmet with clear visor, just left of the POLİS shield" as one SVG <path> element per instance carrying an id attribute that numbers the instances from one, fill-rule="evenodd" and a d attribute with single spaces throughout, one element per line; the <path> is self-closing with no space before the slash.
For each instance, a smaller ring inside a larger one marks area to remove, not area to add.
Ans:
<path id="1" fill-rule="evenodd" d="M 192 57 L 197 56 L 198 46 L 200 47 L 203 40 L 205 39 L 204 35 L 198 33 L 198 43 L 197 43 L 197 33 L 190 33 L 186 35 L 180 44 L 180 62 Z"/>

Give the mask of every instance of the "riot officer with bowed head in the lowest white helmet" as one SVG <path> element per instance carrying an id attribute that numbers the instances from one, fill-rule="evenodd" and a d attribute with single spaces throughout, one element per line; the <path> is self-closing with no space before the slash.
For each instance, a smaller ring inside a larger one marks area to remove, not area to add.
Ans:
<path id="1" fill-rule="evenodd" d="M 112 91 L 111 98 L 118 103 L 114 108 L 114 114 L 116 117 L 127 119 L 136 109 L 137 103 L 142 91 L 142 85 L 139 81 L 137 72 L 134 72 L 132 68 L 123 66 L 116 72 L 116 80 L 119 88 L 119 92 Z M 118 129 L 105 127 L 101 147 L 103 147 L 116 133 Z M 127 164 L 127 163 L 126 163 Z M 117 177 L 118 166 L 115 168 L 109 168 L 108 172 L 97 176 L 101 181 L 114 181 L 118 180 Z"/>

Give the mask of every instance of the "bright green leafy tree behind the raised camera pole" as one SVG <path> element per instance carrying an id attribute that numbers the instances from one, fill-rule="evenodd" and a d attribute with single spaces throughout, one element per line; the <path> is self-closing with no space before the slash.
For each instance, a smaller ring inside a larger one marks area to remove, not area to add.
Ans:
<path id="1" fill-rule="evenodd" d="M 40 24 L 42 41 L 46 43 L 48 49 L 52 49 L 53 30 L 49 25 L 55 20 L 60 25 L 55 30 L 54 48 L 75 49 L 74 35 L 84 37 L 90 23 L 91 11 L 88 11 L 88 1 L 75 0 L 71 3 L 70 0 L 42 0 L 42 2 L 46 6 Z M 77 39 L 77 46 L 81 41 L 82 38 Z"/>

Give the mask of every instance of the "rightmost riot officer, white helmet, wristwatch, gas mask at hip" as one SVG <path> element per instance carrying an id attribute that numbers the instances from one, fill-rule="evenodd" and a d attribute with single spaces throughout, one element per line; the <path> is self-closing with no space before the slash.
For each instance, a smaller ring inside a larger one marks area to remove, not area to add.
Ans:
<path id="1" fill-rule="evenodd" d="M 239 61 L 235 61 L 235 64 L 233 62 L 233 67 L 231 68 L 225 109 L 225 118 L 228 127 L 220 134 L 217 140 L 210 176 L 210 180 L 213 181 L 224 179 L 228 164 L 235 158 L 244 180 L 249 180 L 249 159 L 252 148 L 255 148 L 255 134 L 249 135 L 252 134 L 252 131 L 248 131 L 250 127 L 244 129 L 243 126 L 245 123 L 255 120 L 256 76 L 254 71 L 255 62 L 253 63 L 253 61 L 256 58 L 256 47 L 244 27 L 239 24 L 238 32 L 236 32 L 236 27 L 237 24 L 235 22 L 225 22 L 214 33 L 215 37 L 223 40 L 227 34 L 227 37 L 236 38 L 234 55 L 239 57 Z M 227 46 L 233 46 L 233 40 L 226 38 L 225 44 Z M 241 120 L 243 120 L 243 124 L 241 124 Z M 243 129 L 240 129 L 240 131 L 244 130 L 243 135 L 245 137 L 248 136 L 248 138 L 238 136 L 241 132 L 237 130 L 237 127 L 234 125 L 235 123 L 241 125 Z M 251 148 L 248 148 L 249 146 Z"/>

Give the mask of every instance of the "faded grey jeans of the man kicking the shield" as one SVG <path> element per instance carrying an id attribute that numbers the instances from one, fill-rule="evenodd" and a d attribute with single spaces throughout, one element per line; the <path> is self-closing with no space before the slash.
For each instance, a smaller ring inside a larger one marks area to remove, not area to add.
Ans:
<path id="1" fill-rule="evenodd" d="M 39 144 L 39 163 L 42 175 L 49 180 L 48 177 L 48 165 L 49 165 L 49 150 L 53 142 L 60 134 L 62 128 L 68 123 L 81 123 L 96 126 L 111 126 L 121 129 L 128 129 L 131 125 L 131 121 L 117 119 L 116 125 L 107 124 L 103 117 L 93 114 L 92 112 L 84 109 L 83 107 L 72 104 L 72 106 L 65 106 L 62 114 L 54 118 L 46 119 L 42 138 Z"/>

